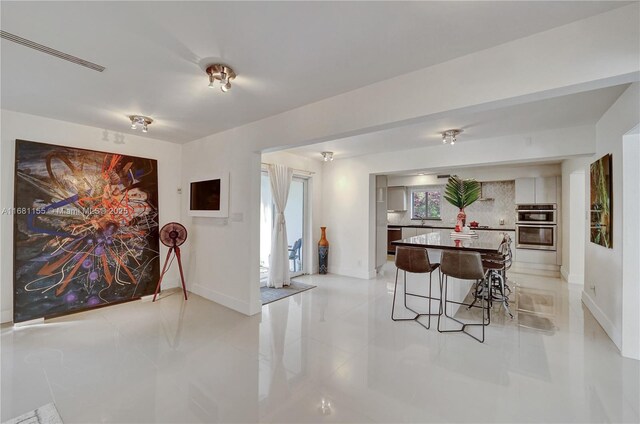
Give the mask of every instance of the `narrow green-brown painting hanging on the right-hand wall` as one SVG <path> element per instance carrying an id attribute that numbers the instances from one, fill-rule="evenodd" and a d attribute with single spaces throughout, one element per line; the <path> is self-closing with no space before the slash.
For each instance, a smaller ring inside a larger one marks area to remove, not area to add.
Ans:
<path id="1" fill-rule="evenodd" d="M 591 164 L 591 242 L 612 248 L 611 155 Z"/>

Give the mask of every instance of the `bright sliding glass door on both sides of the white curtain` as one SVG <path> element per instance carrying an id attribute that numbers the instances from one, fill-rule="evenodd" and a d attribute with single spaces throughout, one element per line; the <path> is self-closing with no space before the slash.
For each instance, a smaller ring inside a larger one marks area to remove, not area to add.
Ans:
<path id="1" fill-rule="evenodd" d="M 307 179 L 293 177 L 289 188 L 287 207 L 287 245 L 289 246 L 289 272 L 292 277 L 305 273 L 305 229 L 307 228 Z M 271 255 L 271 232 L 275 219 L 275 206 L 271 195 L 269 175 L 262 173 L 260 201 L 260 282 L 266 285 Z"/>

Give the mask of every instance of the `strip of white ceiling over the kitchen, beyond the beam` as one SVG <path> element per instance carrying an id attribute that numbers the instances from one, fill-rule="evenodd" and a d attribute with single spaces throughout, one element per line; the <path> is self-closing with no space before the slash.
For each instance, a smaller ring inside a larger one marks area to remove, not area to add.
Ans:
<path id="1" fill-rule="evenodd" d="M 628 86 L 623 84 L 483 112 L 451 113 L 446 118 L 288 151 L 317 160 L 322 159 L 320 152 L 330 151 L 334 152 L 335 159 L 341 159 L 441 145 L 441 132 L 451 128 L 464 131 L 457 137 L 457 145 L 506 135 L 591 125 L 602 117 Z"/>

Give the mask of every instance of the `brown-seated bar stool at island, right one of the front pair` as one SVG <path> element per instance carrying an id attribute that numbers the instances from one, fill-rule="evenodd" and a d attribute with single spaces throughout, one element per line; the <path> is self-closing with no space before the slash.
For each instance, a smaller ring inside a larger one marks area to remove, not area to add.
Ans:
<path id="1" fill-rule="evenodd" d="M 482 257 L 480 256 L 480 253 L 445 250 L 442 252 L 440 272 L 443 275 L 441 286 L 440 286 L 440 293 L 443 293 L 441 294 L 442 300 L 440 301 L 440 304 L 441 304 L 440 310 L 441 311 L 444 310 L 445 317 L 452 319 L 458 324 L 461 324 L 462 327 L 459 330 L 441 330 L 440 329 L 441 316 L 438 316 L 438 331 L 440 333 L 464 333 L 469 337 L 476 339 L 480 343 L 484 343 L 484 327 L 491 324 L 491 311 L 488 307 L 488 302 L 485 301 L 484 297 L 482 297 L 482 306 L 481 306 L 482 323 L 464 323 L 447 314 L 447 303 L 456 303 L 459 305 L 471 307 L 469 304 L 466 304 L 466 303 L 447 300 L 449 277 L 458 278 L 460 280 L 475 280 L 476 286 L 480 284 L 485 279 L 485 271 L 484 271 L 484 268 L 482 267 Z M 444 285 L 444 290 L 442 287 L 443 285 Z M 489 285 L 489 295 L 491 295 L 491 285 Z M 444 304 L 444 307 L 442 306 L 443 304 Z M 487 311 L 487 319 L 485 319 L 485 310 Z M 478 338 L 466 331 L 467 327 L 474 327 L 474 326 L 482 327 L 482 338 Z"/>

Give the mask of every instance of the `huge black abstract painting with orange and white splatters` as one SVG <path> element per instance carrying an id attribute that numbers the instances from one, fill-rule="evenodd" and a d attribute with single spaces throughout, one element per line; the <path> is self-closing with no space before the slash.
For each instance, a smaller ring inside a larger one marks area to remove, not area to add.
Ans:
<path id="1" fill-rule="evenodd" d="M 14 322 L 153 294 L 157 162 L 16 140 Z"/>

